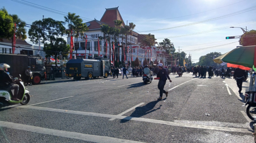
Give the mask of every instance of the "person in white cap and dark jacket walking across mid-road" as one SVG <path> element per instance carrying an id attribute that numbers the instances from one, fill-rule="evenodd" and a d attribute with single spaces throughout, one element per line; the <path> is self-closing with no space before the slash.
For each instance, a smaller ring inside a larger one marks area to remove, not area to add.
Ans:
<path id="1" fill-rule="evenodd" d="M 167 78 L 170 82 L 172 82 L 172 81 L 171 81 L 166 69 L 163 68 L 163 64 L 159 63 L 159 65 L 157 65 L 157 66 L 160 69 L 157 76 L 156 76 L 157 78 L 160 78 L 159 81 L 158 81 L 158 86 L 157 86 L 158 89 L 160 90 L 160 96 L 157 99 L 160 100 L 160 99 L 162 99 L 163 93 L 166 94 L 166 97 L 168 96 L 168 91 L 164 90 L 164 85 L 166 84 Z"/>

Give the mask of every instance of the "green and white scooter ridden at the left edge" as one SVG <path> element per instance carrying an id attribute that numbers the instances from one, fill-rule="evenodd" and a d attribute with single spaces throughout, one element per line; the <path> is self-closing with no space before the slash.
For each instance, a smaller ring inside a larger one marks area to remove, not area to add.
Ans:
<path id="1" fill-rule="evenodd" d="M 18 78 L 14 78 L 14 79 L 15 80 L 20 79 L 20 75 Z M 25 89 L 25 86 L 22 81 L 17 81 L 17 83 L 15 84 L 19 85 L 17 99 L 20 99 L 20 101 L 12 101 L 12 97 L 13 97 L 12 91 L 0 88 L 0 108 L 14 105 L 14 104 L 19 104 L 19 103 L 22 105 L 28 104 L 30 100 L 29 91 Z"/>

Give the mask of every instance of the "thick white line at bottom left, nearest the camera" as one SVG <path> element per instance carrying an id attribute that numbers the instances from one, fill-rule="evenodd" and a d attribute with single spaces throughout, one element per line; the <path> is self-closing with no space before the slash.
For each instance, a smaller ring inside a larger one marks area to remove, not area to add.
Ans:
<path id="1" fill-rule="evenodd" d="M 54 130 L 50 128 L 42 128 L 31 125 L 23 125 L 20 123 L 0 121 L 0 127 L 13 128 L 34 133 L 43 133 L 46 135 L 62 136 L 65 138 L 74 138 L 84 141 L 92 141 L 95 143 L 141 143 L 139 141 L 124 140 L 120 138 L 112 138 L 108 136 L 88 135 L 84 133 L 68 132 L 64 130 Z"/>

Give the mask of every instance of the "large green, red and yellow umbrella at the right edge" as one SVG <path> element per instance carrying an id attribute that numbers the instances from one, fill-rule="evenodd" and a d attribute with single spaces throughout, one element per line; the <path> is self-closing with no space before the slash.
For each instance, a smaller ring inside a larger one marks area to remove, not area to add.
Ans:
<path id="1" fill-rule="evenodd" d="M 244 70 L 256 66 L 256 46 L 245 46 L 233 49 L 213 60 L 215 63 L 228 63 L 228 66 Z M 246 69 L 245 69 L 246 68 Z"/>

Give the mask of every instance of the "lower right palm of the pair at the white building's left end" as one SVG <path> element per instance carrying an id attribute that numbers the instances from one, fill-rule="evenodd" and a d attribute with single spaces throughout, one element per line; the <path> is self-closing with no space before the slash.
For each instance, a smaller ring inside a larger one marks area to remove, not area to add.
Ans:
<path id="1" fill-rule="evenodd" d="M 77 20 L 74 22 L 74 37 L 77 39 L 78 41 L 78 37 L 84 37 L 84 32 L 88 31 L 87 25 L 85 23 L 82 23 L 83 20 L 81 18 L 77 18 Z M 79 48 L 79 47 L 78 47 Z M 77 54 L 77 49 L 76 48 L 76 52 L 75 54 Z"/>

